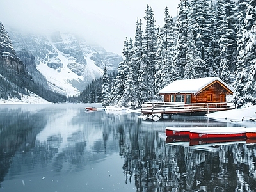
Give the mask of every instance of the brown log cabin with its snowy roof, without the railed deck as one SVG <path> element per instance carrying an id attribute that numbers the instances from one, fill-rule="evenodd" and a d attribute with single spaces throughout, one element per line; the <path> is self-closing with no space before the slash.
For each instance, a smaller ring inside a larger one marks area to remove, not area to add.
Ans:
<path id="1" fill-rule="evenodd" d="M 159 91 L 164 102 L 225 103 L 226 95 L 234 90 L 218 77 L 184 79 L 170 83 Z"/>

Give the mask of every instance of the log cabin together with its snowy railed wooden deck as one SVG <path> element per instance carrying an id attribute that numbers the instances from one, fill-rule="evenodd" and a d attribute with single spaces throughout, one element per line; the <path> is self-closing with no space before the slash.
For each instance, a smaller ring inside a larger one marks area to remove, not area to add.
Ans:
<path id="1" fill-rule="evenodd" d="M 159 91 L 164 102 L 147 102 L 141 105 L 142 115 L 210 113 L 234 109 L 226 96 L 234 90 L 218 77 L 184 79 L 170 83 Z"/>

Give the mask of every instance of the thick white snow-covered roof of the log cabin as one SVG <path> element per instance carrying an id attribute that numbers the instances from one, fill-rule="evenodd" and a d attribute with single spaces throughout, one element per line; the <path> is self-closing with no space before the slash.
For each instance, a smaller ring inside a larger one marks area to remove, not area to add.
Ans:
<path id="1" fill-rule="evenodd" d="M 209 84 L 219 81 L 230 93 L 234 93 L 234 89 L 218 77 L 205 77 L 198 79 L 183 79 L 173 81 L 163 89 L 159 90 L 159 94 L 165 93 L 199 93 L 204 90 Z"/>

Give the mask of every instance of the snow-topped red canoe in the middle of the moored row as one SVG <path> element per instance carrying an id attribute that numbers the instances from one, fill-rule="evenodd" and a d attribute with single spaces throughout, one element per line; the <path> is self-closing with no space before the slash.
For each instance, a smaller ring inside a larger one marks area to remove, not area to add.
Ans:
<path id="1" fill-rule="evenodd" d="M 245 127 L 222 127 L 222 129 L 193 129 L 189 133 L 190 139 L 207 139 L 207 138 L 234 138 L 245 137 Z"/>

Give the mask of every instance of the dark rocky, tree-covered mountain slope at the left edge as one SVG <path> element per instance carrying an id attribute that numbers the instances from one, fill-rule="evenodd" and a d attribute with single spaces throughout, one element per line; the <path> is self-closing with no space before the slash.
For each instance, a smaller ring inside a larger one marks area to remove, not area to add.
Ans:
<path id="1" fill-rule="evenodd" d="M 27 52 L 22 52 L 26 63 L 24 63 L 13 49 L 10 36 L 0 22 L 0 100 L 22 100 L 22 98 L 33 97 L 49 102 L 63 102 L 67 100 L 65 95 L 53 92 L 40 72 L 35 67 L 35 57 Z M 29 72 L 35 70 L 38 77 L 32 76 Z M 42 78 L 42 81 L 40 81 Z M 40 82 L 40 83 L 39 83 Z"/>

